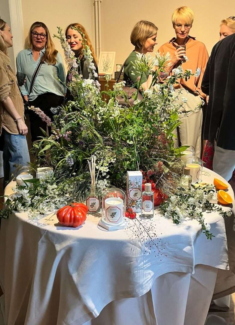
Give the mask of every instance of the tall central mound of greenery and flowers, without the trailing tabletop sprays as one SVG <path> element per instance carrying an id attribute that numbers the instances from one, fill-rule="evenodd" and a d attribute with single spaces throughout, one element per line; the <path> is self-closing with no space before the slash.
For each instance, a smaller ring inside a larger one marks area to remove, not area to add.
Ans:
<path id="1" fill-rule="evenodd" d="M 65 45 L 60 28 L 55 36 L 61 41 L 67 63 L 73 67 L 74 57 Z M 85 44 L 85 39 L 83 42 Z M 68 85 L 74 100 L 66 107 L 53 108 L 52 135 L 45 135 L 34 144 L 36 165 L 54 167 L 55 179 L 60 183 L 71 176 L 74 182 L 79 181 L 81 198 L 90 186 L 87 159 L 92 154 L 100 170 L 97 181 L 125 189 L 127 170 L 142 169 L 163 192 L 174 193 L 182 168 L 180 152 L 185 147 L 174 149 L 173 130 L 180 118 L 179 105 L 174 104 L 173 84 L 178 78 L 190 78 L 192 72 L 183 72 L 179 66 L 160 84 L 168 56 L 139 54 L 133 63 L 133 73 L 141 75 L 137 88 L 141 89 L 142 75 L 146 71 L 153 75 L 152 88 L 143 92 L 141 102 L 135 98 L 134 105 L 130 106 L 126 98 L 127 105 L 123 106 L 115 98 L 125 98 L 124 82 L 114 85 L 113 91 L 105 92 L 109 97 L 106 103 L 102 100 L 99 83 L 94 80 L 93 59 L 87 45 L 84 56 L 91 70 L 90 79 L 83 79 L 74 69 Z M 155 72 L 153 67 L 157 67 Z"/>

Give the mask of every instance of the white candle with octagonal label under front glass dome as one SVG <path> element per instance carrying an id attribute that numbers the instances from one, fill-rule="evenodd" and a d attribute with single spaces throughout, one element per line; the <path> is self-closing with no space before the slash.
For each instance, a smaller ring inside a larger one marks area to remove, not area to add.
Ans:
<path id="1" fill-rule="evenodd" d="M 123 200 L 121 198 L 105 200 L 105 221 L 111 224 L 123 221 Z"/>

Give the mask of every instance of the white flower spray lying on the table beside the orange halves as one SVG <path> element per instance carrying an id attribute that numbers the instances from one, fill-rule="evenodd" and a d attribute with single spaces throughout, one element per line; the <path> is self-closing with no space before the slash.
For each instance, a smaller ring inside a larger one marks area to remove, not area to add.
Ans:
<path id="1" fill-rule="evenodd" d="M 215 188 L 213 185 L 205 187 L 196 187 L 191 185 L 189 188 L 179 187 L 169 199 L 163 202 L 159 210 L 161 214 L 167 218 L 172 218 L 175 224 L 179 224 L 186 218 L 196 219 L 202 225 L 203 232 L 207 239 L 212 239 L 213 234 L 210 233 L 210 225 L 205 224 L 203 212 L 217 211 L 223 217 L 230 216 L 232 212 L 224 212 L 222 208 L 215 206 L 210 201 L 215 196 Z"/>

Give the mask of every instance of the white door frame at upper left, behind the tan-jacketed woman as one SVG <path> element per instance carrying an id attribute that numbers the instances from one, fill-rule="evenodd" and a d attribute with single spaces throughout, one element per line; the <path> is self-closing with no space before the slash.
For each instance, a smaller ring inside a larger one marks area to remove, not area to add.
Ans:
<path id="1" fill-rule="evenodd" d="M 8 0 L 11 31 L 13 34 L 13 54 L 16 67 L 16 57 L 24 49 L 24 22 L 21 0 Z M 17 69 L 16 69 L 17 71 Z"/>

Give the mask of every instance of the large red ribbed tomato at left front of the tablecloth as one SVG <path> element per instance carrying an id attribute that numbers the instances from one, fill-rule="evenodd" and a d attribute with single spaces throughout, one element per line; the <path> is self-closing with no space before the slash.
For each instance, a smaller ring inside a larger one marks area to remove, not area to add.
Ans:
<path id="1" fill-rule="evenodd" d="M 60 208 L 57 213 L 57 219 L 61 225 L 78 227 L 86 220 L 88 208 L 83 203 L 72 203 Z"/>

